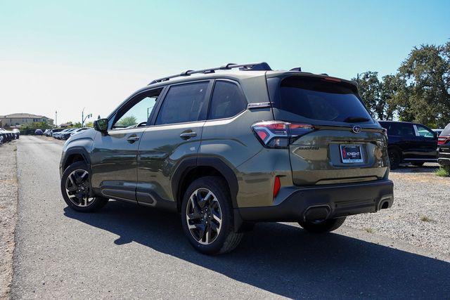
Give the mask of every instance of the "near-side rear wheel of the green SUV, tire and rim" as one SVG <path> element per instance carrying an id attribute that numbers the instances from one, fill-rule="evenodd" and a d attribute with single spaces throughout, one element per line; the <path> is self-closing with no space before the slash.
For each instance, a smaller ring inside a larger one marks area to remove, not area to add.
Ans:
<path id="1" fill-rule="evenodd" d="M 203 254 L 223 254 L 235 249 L 243 237 L 233 228 L 233 207 L 221 177 L 198 178 L 183 197 L 181 223 L 191 245 Z"/>

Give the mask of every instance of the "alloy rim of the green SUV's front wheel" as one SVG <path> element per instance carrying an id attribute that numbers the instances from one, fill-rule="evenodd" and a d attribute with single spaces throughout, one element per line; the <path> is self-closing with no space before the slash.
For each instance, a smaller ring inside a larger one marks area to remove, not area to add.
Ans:
<path id="1" fill-rule="evenodd" d="M 89 173 L 86 170 L 72 171 L 65 181 L 65 193 L 77 207 L 87 207 L 94 202 L 95 198 L 89 196 L 90 190 Z"/>

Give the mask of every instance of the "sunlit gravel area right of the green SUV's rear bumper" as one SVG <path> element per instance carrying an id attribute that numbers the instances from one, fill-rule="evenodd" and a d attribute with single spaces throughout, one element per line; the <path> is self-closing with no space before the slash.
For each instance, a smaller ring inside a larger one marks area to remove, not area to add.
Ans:
<path id="1" fill-rule="evenodd" d="M 435 176 L 438 167 L 430 163 L 391 171 L 392 207 L 349 216 L 345 225 L 450 254 L 450 178 Z"/>

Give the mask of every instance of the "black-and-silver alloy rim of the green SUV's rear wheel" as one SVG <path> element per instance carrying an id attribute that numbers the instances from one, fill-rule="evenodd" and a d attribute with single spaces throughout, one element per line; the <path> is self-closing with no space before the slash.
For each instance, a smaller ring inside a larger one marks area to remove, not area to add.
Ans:
<path id="1" fill-rule="evenodd" d="M 211 244 L 219 236 L 222 213 L 217 197 L 207 188 L 195 190 L 187 202 L 186 221 L 192 237 L 200 244 Z"/>

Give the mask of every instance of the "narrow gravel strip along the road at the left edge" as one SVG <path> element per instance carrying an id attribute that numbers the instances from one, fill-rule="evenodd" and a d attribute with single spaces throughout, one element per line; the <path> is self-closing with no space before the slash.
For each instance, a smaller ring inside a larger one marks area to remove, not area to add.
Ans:
<path id="1" fill-rule="evenodd" d="M 15 141 L 0 145 L 0 299 L 7 299 L 13 277 L 18 180 Z"/>

